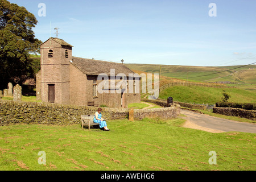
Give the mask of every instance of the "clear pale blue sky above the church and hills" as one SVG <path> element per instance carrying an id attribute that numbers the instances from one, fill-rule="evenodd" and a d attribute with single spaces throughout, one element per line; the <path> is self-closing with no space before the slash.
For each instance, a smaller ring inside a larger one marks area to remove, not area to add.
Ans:
<path id="1" fill-rule="evenodd" d="M 56 37 L 77 57 L 121 63 L 225 66 L 256 62 L 256 1 L 10 0 L 38 19 L 36 38 Z M 39 16 L 39 3 L 46 16 Z M 209 16 L 210 3 L 216 15 Z"/>

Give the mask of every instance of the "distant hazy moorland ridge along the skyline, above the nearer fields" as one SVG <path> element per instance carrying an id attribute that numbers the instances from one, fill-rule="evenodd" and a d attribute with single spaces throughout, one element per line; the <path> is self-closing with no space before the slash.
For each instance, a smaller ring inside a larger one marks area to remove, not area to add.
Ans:
<path id="1" fill-rule="evenodd" d="M 159 73 L 161 76 L 181 78 L 189 81 L 230 81 L 246 84 L 256 84 L 256 65 L 234 69 L 240 66 L 230 67 L 195 67 L 180 65 L 158 65 L 158 64 L 126 64 L 130 69 L 148 73 Z M 226 71 L 234 69 L 231 71 Z M 221 72 L 221 73 L 218 73 Z M 256 87 L 256 86 L 255 86 Z"/>

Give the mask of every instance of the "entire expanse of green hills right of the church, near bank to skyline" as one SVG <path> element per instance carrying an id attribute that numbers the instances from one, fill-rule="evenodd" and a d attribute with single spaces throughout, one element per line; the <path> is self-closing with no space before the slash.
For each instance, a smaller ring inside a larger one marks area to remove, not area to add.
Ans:
<path id="1" fill-rule="evenodd" d="M 159 98 L 173 97 L 174 101 L 214 104 L 221 101 L 225 89 L 230 94 L 230 102 L 256 102 L 256 65 L 230 67 L 195 67 L 180 65 L 126 64 L 134 72 L 160 73 L 160 86 L 169 82 L 190 82 L 234 86 L 234 88 L 214 88 L 209 86 L 176 85 L 164 89 Z M 240 68 L 238 68 L 240 67 Z M 237 68 L 237 69 L 236 69 Z"/>

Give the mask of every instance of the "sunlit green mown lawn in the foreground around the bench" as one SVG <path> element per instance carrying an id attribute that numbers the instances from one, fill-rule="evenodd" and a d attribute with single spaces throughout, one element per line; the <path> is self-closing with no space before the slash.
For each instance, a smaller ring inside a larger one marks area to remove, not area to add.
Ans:
<path id="1" fill-rule="evenodd" d="M 110 131 L 71 126 L 0 127 L 1 170 L 255 170 L 256 134 L 208 133 L 183 119 L 108 121 Z M 39 151 L 46 165 L 39 164 Z M 209 164 L 215 151 L 217 164 Z"/>

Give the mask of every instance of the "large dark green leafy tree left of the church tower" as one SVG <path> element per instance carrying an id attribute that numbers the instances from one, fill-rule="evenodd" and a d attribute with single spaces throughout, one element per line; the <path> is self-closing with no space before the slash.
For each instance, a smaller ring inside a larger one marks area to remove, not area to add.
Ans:
<path id="1" fill-rule="evenodd" d="M 35 77 L 30 53 L 42 43 L 32 31 L 37 22 L 25 7 L 0 0 L 0 90 Z"/>

